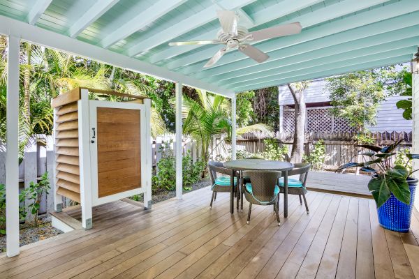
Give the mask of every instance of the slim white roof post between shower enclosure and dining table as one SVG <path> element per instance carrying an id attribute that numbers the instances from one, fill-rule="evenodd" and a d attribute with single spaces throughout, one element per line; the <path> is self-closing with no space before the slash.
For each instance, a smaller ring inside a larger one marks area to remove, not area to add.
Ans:
<path id="1" fill-rule="evenodd" d="M 182 199 L 182 87 L 176 82 L 176 198 Z"/>

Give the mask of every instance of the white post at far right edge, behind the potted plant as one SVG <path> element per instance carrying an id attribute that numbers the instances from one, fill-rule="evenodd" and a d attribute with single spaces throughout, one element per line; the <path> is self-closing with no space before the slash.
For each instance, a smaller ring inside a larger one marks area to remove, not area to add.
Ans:
<path id="1" fill-rule="evenodd" d="M 416 72 L 416 69 L 418 67 L 418 63 L 413 61 L 412 64 L 412 69 L 413 69 L 413 73 L 412 73 L 412 119 L 413 119 L 413 142 L 412 142 L 412 147 L 413 147 L 413 152 L 414 154 L 418 154 L 419 153 L 419 73 Z M 419 160 L 413 160 L 413 169 L 418 169 L 419 168 Z M 417 179 L 419 179 L 419 174 L 418 172 L 415 172 L 414 174 L 416 176 Z M 418 191 L 416 191 L 418 192 Z M 416 196 L 416 201 L 415 201 L 415 207 L 416 209 L 419 210 L 419 199 L 418 196 Z"/>

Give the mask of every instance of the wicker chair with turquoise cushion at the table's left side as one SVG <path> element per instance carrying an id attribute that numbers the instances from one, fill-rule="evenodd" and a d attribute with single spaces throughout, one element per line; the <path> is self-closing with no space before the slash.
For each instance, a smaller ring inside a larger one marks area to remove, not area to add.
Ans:
<path id="1" fill-rule="evenodd" d="M 211 176 L 211 190 L 212 190 L 212 197 L 211 197 L 211 203 L 210 203 L 210 209 L 212 209 L 212 202 L 216 200 L 216 193 L 219 192 L 228 192 L 230 193 L 230 186 L 231 186 L 231 169 L 227 169 L 226 167 L 223 167 L 223 163 L 221 162 L 208 162 L 208 170 L 210 171 Z M 223 175 L 220 175 L 223 174 Z M 239 174 L 236 173 L 234 178 L 234 191 L 235 195 L 237 196 L 237 209 L 239 206 L 238 199 L 240 197 L 238 191 L 239 187 L 237 187 L 237 180 L 240 181 Z"/>

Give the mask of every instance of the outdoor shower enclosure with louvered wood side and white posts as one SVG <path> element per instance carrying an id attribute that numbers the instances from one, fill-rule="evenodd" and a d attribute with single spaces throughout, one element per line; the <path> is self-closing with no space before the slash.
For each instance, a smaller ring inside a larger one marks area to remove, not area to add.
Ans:
<path id="1" fill-rule="evenodd" d="M 143 193 L 151 207 L 150 106 L 149 98 L 80 87 L 52 100 L 56 212 L 68 197 L 80 203 L 82 227 L 90 229 L 93 206 Z"/>

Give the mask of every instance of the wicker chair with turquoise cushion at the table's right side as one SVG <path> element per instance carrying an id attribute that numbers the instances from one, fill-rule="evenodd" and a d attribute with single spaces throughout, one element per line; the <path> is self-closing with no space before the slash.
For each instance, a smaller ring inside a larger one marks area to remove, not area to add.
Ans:
<path id="1" fill-rule="evenodd" d="M 301 196 L 304 198 L 304 204 L 306 206 L 307 214 L 309 214 L 309 206 L 307 205 L 307 199 L 305 198 L 305 194 L 307 194 L 306 189 L 306 181 L 307 176 L 310 170 L 309 163 L 296 163 L 294 164 L 294 168 L 288 171 L 288 176 L 300 174 L 298 179 L 290 179 L 288 178 L 288 194 L 290 195 L 298 195 L 300 197 L 300 204 L 302 204 Z M 284 193 L 284 177 L 279 179 L 279 190 L 280 193 Z"/>

